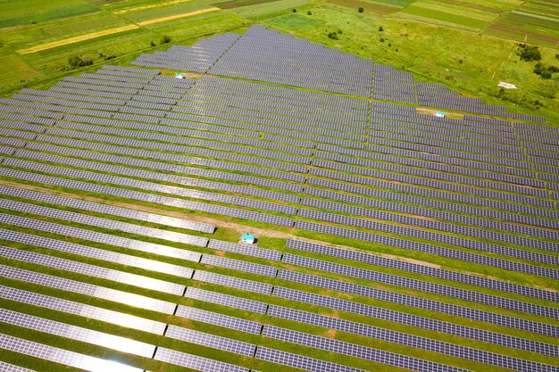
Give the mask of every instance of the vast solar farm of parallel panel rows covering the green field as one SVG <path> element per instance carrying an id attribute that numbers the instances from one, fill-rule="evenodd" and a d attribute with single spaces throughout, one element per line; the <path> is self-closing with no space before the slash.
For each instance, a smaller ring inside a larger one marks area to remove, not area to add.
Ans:
<path id="1" fill-rule="evenodd" d="M 559 129 L 261 27 L 134 64 L 0 98 L 4 322 L 138 368 L 557 370 Z M 223 219 L 315 240 L 208 238 Z"/>

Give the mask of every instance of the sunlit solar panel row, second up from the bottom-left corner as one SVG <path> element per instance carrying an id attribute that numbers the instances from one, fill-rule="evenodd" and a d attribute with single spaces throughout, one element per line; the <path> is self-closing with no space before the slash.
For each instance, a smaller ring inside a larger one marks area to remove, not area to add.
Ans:
<path id="1" fill-rule="evenodd" d="M 66 366 L 84 369 L 90 372 L 142 372 L 141 368 L 134 368 L 114 360 L 103 360 L 88 355 L 67 351 L 42 343 L 23 340 L 11 335 L 0 335 L 0 348 L 29 355 L 41 360 L 50 360 Z"/>

